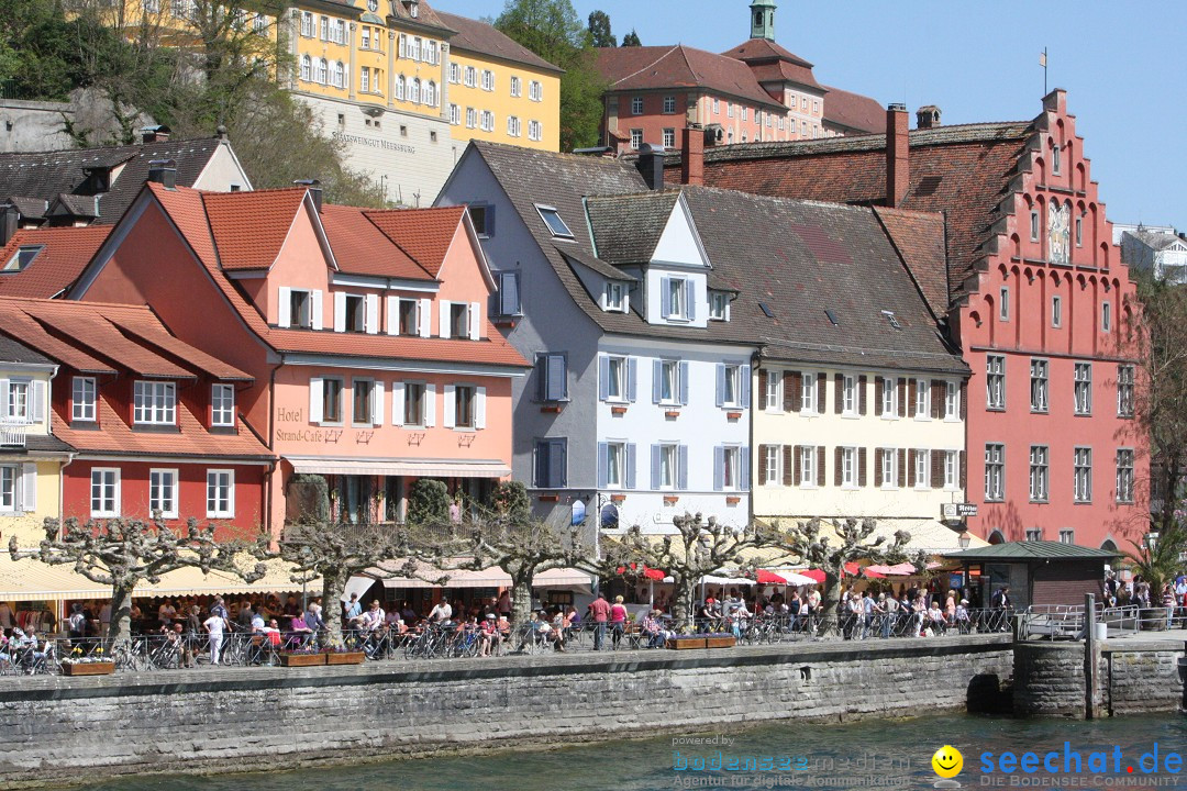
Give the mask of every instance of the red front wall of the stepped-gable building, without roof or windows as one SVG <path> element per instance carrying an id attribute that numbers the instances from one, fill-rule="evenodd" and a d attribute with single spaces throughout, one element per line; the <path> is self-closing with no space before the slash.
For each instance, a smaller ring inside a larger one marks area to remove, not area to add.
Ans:
<path id="1" fill-rule="evenodd" d="M 967 491 L 979 513 L 970 529 L 990 538 L 1026 537 L 1040 529 L 1058 541 L 1061 530 L 1074 530 L 1078 544 L 1118 548 L 1148 529 L 1149 452 L 1137 421 L 1118 415 L 1118 365 L 1137 356 L 1129 333 L 1136 310 L 1135 286 L 1111 245 L 1110 223 L 1098 186 L 1090 179 L 1075 119 L 1067 114 L 1065 95 L 1046 100 L 1046 129 L 1029 153 L 1030 170 L 1013 197 L 1013 212 L 973 293 L 958 308 L 960 343 L 973 375 L 967 403 Z M 1059 173 L 1053 151 L 1060 149 Z M 1048 212 L 1071 205 L 1068 262 L 1050 262 Z M 1030 212 L 1039 211 L 1039 238 L 1032 240 Z M 1077 231 L 1075 221 L 1080 228 Z M 1079 243 L 1078 243 L 1079 234 Z M 1003 314 L 1003 288 L 1009 301 Z M 1060 298 L 1058 326 L 1053 298 Z M 1109 304 L 1110 325 L 1104 326 Z M 1005 358 L 1005 408 L 986 407 L 986 357 Z M 1048 409 L 1033 410 L 1030 364 L 1048 363 Z M 1074 413 L 1074 365 L 1092 363 L 1091 415 Z M 1005 487 L 1002 502 L 985 502 L 985 445 L 1005 446 Z M 1048 497 L 1030 498 L 1030 448 L 1048 447 Z M 1092 448 L 1091 502 L 1073 498 L 1075 448 Z M 1118 502 L 1116 454 L 1135 451 L 1135 492 L 1131 503 Z"/>

